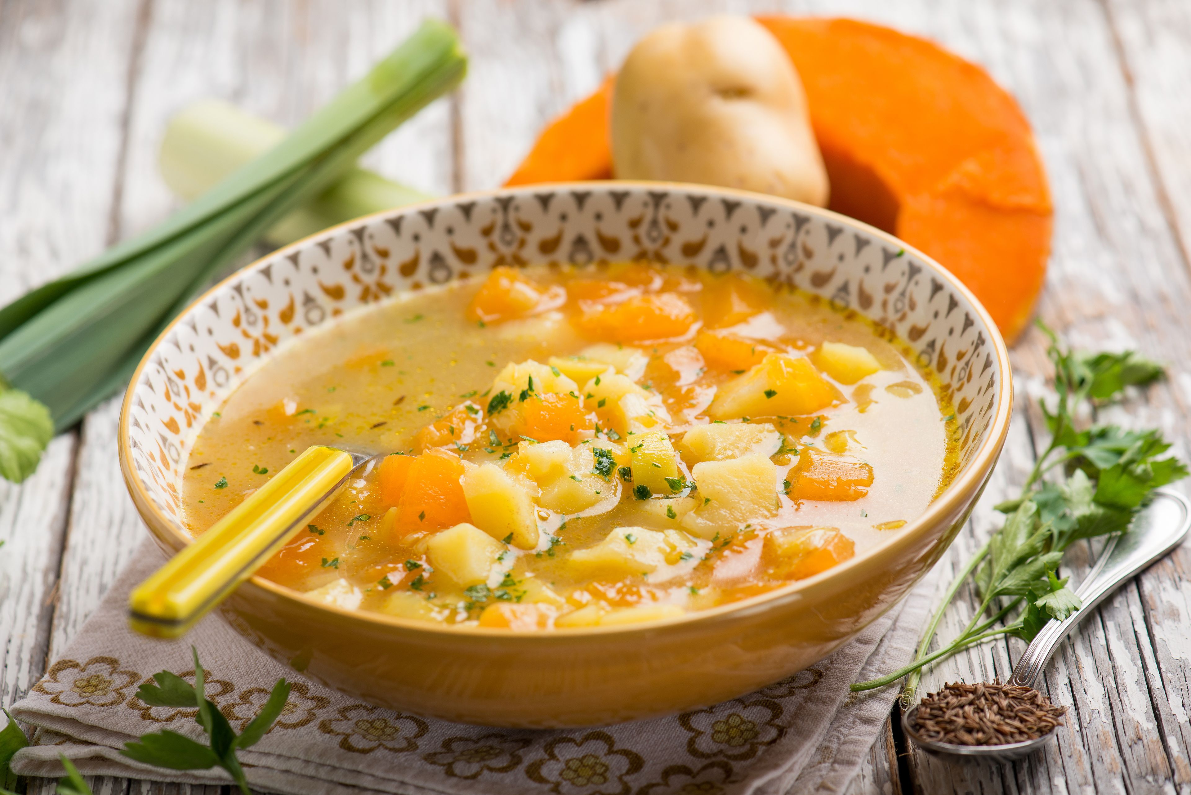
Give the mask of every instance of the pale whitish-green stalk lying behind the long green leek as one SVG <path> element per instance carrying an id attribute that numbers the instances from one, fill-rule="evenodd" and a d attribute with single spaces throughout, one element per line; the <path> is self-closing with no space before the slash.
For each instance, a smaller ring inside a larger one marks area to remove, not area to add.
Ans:
<path id="1" fill-rule="evenodd" d="M 169 190 L 189 201 L 285 136 L 285 128 L 230 103 L 200 100 L 170 118 L 157 156 L 158 170 Z M 264 240 L 286 246 L 344 221 L 431 198 L 375 172 L 353 167 L 267 230 Z"/>

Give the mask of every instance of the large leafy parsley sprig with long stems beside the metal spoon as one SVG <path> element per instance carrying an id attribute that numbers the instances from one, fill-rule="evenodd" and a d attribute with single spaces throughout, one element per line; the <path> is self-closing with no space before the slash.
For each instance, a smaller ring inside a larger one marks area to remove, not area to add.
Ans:
<path id="1" fill-rule="evenodd" d="M 1033 640 L 1048 621 L 1062 621 L 1080 608 L 1067 579 L 1056 573 L 1066 549 L 1083 539 L 1124 530 L 1154 489 L 1186 477 L 1186 464 L 1165 455 L 1171 445 L 1159 430 L 1095 423 L 1080 429 L 1074 420 L 1084 404 L 1095 408 L 1120 399 L 1129 386 L 1152 384 L 1164 375 L 1162 367 L 1131 350 L 1075 353 L 1064 347 L 1054 331 L 1037 325 L 1050 340 L 1047 355 L 1055 371 L 1054 410 L 1046 400 L 1039 402 L 1050 443 L 1035 461 L 1022 495 L 997 505 L 1008 515 L 1004 526 L 943 595 L 913 662 L 853 684 L 853 690 L 871 690 L 908 677 L 903 697 L 909 702 L 925 665 L 1000 635 Z M 1061 480 L 1045 479 L 1055 470 Z M 930 652 L 944 611 L 968 582 L 980 598 L 979 609 L 954 640 Z"/>

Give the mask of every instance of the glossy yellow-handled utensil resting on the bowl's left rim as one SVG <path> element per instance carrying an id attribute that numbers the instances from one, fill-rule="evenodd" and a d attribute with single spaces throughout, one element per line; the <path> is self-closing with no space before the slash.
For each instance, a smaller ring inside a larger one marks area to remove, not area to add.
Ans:
<path id="1" fill-rule="evenodd" d="M 308 447 L 129 596 L 129 623 L 180 638 L 382 455 Z"/>

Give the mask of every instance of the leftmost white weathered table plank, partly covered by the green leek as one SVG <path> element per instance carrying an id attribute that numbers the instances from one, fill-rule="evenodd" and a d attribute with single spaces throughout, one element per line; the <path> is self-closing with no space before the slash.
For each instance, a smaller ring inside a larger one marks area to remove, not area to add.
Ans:
<path id="1" fill-rule="evenodd" d="M 107 242 L 136 0 L 0 7 L 0 302 Z M 76 437 L 0 484 L 0 701 L 40 676 L 57 598 Z"/>

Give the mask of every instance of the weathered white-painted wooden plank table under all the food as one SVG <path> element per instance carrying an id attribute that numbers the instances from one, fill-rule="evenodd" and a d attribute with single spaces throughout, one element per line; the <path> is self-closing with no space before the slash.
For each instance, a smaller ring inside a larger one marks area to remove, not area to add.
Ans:
<path id="1" fill-rule="evenodd" d="M 425 15 L 472 56 L 456 95 L 367 163 L 428 191 L 498 185 L 542 124 L 591 91 L 643 31 L 712 11 L 855 15 L 931 37 L 1022 103 L 1058 219 L 1040 315 L 1083 347 L 1137 348 L 1170 380 L 1114 409 L 1161 426 L 1186 455 L 1191 399 L 1191 2 L 1187 0 L 0 0 L 0 302 L 174 206 L 156 170 L 166 119 L 220 97 L 294 124 Z M 1014 352 L 1018 409 L 981 507 L 1021 483 L 1045 443 L 1027 399 L 1043 343 Z M 57 437 L 37 474 L 0 482 L 0 703 L 19 698 L 94 609 L 143 534 L 116 460 L 118 404 Z M 956 544 L 956 553 L 974 546 Z M 1078 561 L 1077 561 L 1078 564 Z M 1047 671 L 1072 707 L 1045 756 L 950 765 L 909 752 L 892 722 L 852 793 L 1191 790 L 1191 553 L 1178 551 L 1089 616 Z M 1077 565 L 1078 570 L 1078 565 Z M 954 611 L 953 625 L 967 616 Z M 944 633 L 955 626 L 944 627 Z M 1017 641 L 934 671 L 1004 677 Z M 194 789 L 96 780 L 95 791 Z M 218 789 L 218 788 L 210 788 Z M 52 791 L 35 782 L 31 790 Z"/>

